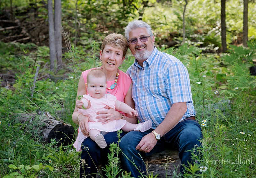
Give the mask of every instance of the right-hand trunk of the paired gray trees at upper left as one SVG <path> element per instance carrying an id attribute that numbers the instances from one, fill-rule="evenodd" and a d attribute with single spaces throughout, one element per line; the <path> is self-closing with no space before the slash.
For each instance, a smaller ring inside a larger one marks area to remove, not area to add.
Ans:
<path id="1" fill-rule="evenodd" d="M 62 66 L 61 0 L 54 0 L 55 47 L 58 68 Z"/>

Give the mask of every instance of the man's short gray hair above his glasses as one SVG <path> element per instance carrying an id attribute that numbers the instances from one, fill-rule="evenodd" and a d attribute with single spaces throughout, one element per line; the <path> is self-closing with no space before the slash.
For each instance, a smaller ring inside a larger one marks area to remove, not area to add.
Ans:
<path id="1" fill-rule="evenodd" d="M 126 26 L 125 30 L 124 30 L 125 38 L 127 39 L 127 41 L 130 38 L 129 32 L 131 30 L 136 29 L 136 28 L 146 28 L 149 36 L 151 36 L 151 38 L 153 37 L 153 33 L 151 31 L 152 28 L 150 27 L 150 25 L 148 25 L 146 22 L 143 22 L 141 20 L 134 20 L 132 22 L 129 22 L 128 25 Z"/>

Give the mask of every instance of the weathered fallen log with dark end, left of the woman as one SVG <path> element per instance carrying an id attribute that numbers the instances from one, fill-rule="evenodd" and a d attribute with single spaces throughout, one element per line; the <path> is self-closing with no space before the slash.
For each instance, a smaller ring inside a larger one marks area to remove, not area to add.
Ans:
<path id="1" fill-rule="evenodd" d="M 40 114 L 18 114 L 17 122 L 28 123 L 33 126 L 33 131 L 43 137 L 43 142 L 50 143 L 55 139 L 57 146 L 68 145 L 74 141 L 75 129 L 62 121 L 55 120 L 49 112 Z"/>

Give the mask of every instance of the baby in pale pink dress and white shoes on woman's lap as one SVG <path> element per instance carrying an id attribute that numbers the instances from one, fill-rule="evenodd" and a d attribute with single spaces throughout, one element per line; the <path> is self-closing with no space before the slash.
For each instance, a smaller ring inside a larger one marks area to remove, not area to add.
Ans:
<path id="1" fill-rule="evenodd" d="M 97 116 L 98 111 L 108 110 L 104 108 L 105 106 L 109 106 L 110 108 L 114 108 L 116 110 L 122 111 L 124 113 L 133 114 L 134 116 L 138 116 L 138 112 L 132 109 L 127 104 L 116 100 L 116 97 L 111 94 L 106 94 L 107 88 L 107 79 L 105 73 L 100 69 L 93 69 L 87 74 L 87 83 L 85 83 L 85 87 L 87 89 L 87 95 L 84 95 L 81 101 L 83 101 L 83 108 L 78 109 L 78 112 L 90 117 L 95 122 L 88 122 L 89 127 L 89 136 L 95 141 L 100 148 L 105 148 L 107 143 L 104 139 L 104 136 L 101 134 L 108 132 L 114 132 L 119 129 L 124 130 L 124 132 L 130 131 L 140 131 L 145 132 L 151 128 L 152 122 L 148 120 L 146 122 L 142 122 L 139 124 L 132 124 L 130 122 L 126 122 L 126 120 L 111 120 L 106 124 L 102 124 L 95 117 Z M 77 100 L 76 105 L 81 104 L 79 100 Z M 107 121 L 108 116 L 106 115 Z M 80 127 L 78 128 L 78 135 L 76 138 L 76 142 L 73 144 L 76 148 L 76 151 L 81 151 L 81 144 L 84 139 L 87 138 L 85 136 Z"/>

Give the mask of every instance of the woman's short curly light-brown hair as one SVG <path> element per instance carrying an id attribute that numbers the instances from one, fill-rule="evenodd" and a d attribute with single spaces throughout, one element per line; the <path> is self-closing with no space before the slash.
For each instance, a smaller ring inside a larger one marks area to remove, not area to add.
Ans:
<path id="1" fill-rule="evenodd" d="M 106 45 L 110 45 L 113 48 L 117 48 L 123 51 L 123 57 L 128 50 L 127 40 L 121 34 L 112 33 L 106 36 L 101 44 L 101 50 L 103 51 Z"/>

